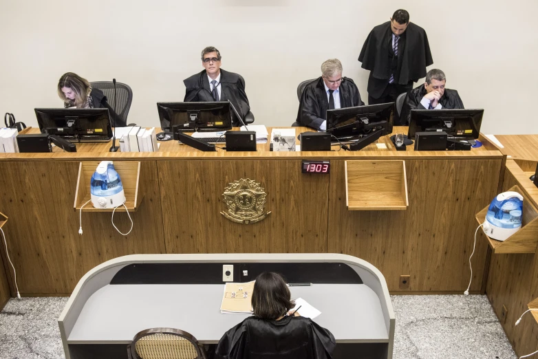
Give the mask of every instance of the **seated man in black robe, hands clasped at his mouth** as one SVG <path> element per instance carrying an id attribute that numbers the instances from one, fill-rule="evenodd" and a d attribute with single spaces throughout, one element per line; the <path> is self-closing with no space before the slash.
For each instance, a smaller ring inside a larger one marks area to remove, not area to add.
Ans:
<path id="1" fill-rule="evenodd" d="M 434 74 L 434 78 L 431 78 L 432 74 Z M 435 76 L 435 74 L 437 76 Z M 438 77 L 441 80 L 436 80 L 435 77 Z M 438 89 L 438 91 L 442 92 L 441 98 L 438 100 L 438 104 L 432 108 L 432 106 L 430 106 L 430 101 L 427 98 L 424 98 L 424 96 L 436 89 L 433 87 L 435 81 L 438 81 L 436 85 L 442 85 L 443 87 L 442 89 Z M 402 112 L 400 113 L 399 118 L 394 118 L 394 125 L 409 126 L 412 109 L 464 109 L 458 91 L 445 89 L 445 83 L 446 78 L 444 73 L 440 69 L 431 69 L 426 76 L 424 85 L 412 89 L 407 93 L 407 96 L 405 96 Z"/>

